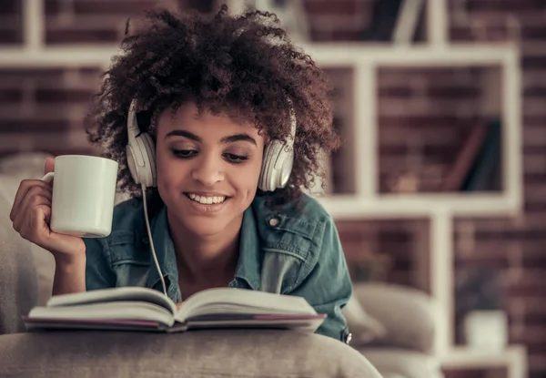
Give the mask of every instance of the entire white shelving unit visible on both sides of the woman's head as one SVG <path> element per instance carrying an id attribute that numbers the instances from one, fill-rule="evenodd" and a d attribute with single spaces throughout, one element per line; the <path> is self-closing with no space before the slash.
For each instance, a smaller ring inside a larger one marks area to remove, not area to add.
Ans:
<path id="1" fill-rule="evenodd" d="M 0 68 L 25 66 L 106 67 L 117 53 L 116 46 L 45 46 L 44 1 L 23 0 L 24 45 L 0 48 Z M 436 354 L 448 364 L 477 361 L 515 361 L 510 378 L 525 376 L 525 353 L 512 349 L 505 354 L 475 354 L 453 348 L 453 251 L 455 216 L 517 216 L 521 213 L 521 71 L 518 47 L 511 44 L 451 44 L 448 37 L 446 0 L 427 0 L 428 42 L 420 46 L 369 45 L 361 43 L 309 44 L 303 46 L 319 66 L 349 67 L 354 73 L 355 195 L 322 197 L 319 200 L 336 219 L 430 220 L 430 286 L 439 303 Z M 502 81 L 502 167 L 501 194 L 379 195 L 378 192 L 378 103 L 377 71 L 384 66 L 496 66 Z M 361 99 L 361 100 L 359 100 Z M 513 357 L 515 355 L 516 357 Z"/>

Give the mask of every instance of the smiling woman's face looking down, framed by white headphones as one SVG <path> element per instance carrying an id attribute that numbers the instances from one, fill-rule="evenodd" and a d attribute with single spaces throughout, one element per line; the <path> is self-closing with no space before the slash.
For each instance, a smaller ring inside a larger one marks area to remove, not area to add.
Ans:
<path id="1" fill-rule="evenodd" d="M 240 227 L 258 188 L 264 138 L 194 103 L 157 120 L 157 189 L 169 221 L 200 236 Z M 173 225 L 171 224 L 171 227 Z"/>

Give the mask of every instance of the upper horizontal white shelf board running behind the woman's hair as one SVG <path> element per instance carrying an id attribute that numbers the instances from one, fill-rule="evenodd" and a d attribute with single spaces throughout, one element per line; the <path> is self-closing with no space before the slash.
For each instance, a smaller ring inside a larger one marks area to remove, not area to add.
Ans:
<path id="1" fill-rule="evenodd" d="M 441 46 L 391 46 L 362 42 L 302 45 L 322 67 L 329 66 L 476 66 L 496 65 L 517 59 L 511 44 L 453 44 Z M 2 48 L 0 66 L 105 66 L 119 52 L 113 45 Z M 400 58 L 403 56 L 403 58 Z"/>

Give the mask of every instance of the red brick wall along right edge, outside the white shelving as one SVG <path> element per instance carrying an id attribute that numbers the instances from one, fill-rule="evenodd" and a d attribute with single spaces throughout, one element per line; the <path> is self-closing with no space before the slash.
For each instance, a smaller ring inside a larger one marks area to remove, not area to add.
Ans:
<path id="1" fill-rule="evenodd" d="M 521 220 L 458 220 L 471 225 L 473 250 L 457 250 L 458 267 L 488 266 L 503 273 L 511 342 L 527 345 L 530 376 L 546 376 L 546 3 L 541 0 L 450 1 L 453 40 L 521 37 L 523 173 L 525 215 Z M 460 2 L 459 2 L 460 3 Z M 466 15 L 456 17 L 455 15 Z M 520 25 L 514 34 L 509 26 Z M 472 34 L 472 26 L 475 32 Z M 477 32 L 476 32 L 477 31 Z M 485 32 L 484 32 L 485 31 Z M 460 236 L 460 235 L 458 235 Z M 465 235 L 467 237 L 468 235 Z"/>

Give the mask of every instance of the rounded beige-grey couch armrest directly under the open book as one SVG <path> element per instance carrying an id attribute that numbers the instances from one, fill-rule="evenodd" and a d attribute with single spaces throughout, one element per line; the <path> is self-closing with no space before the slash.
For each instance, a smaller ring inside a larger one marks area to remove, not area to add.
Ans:
<path id="1" fill-rule="evenodd" d="M 343 342 L 274 330 L 9 334 L 0 336 L 0 376 L 381 378 Z"/>

